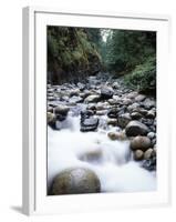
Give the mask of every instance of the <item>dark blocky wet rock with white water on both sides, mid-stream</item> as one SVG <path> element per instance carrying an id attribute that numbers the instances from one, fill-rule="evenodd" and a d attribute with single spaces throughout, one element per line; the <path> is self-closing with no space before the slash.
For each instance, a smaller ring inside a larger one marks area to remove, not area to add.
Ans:
<path id="1" fill-rule="evenodd" d="M 89 132 L 89 131 L 95 131 L 99 125 L 99 119 L 97 118 L 86 118 L 81 119 L 81 131 L 82 132 Z"/>

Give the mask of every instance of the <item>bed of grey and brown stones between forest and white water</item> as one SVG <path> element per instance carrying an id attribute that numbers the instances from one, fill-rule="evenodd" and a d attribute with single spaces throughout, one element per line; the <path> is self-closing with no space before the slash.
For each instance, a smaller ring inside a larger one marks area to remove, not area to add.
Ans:
<path id="1" fill-rule="evenodd" d="M 154 98 L 127 89 L 123 80 L 106 74 L 89 77 L 84 83 L 48 84 L 46 95 L 48 124 L 53 130 L 62 130 L 68 115 L 80 117 L 81 132 L 103 129 L 110 140 L 130 140 L 133 159 L 148 171 L 156 170 Z"/>

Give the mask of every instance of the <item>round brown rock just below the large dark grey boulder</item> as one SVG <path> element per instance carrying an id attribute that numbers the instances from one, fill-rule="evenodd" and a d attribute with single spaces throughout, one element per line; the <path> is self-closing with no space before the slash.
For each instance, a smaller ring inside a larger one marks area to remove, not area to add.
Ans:
<path id="1" fill-rule="evenodd" d="M 148 148 L 151 148 L 151 140 L 147 137 L 137 135 L 131 141 L 132 150 L 142 150 L 145 152 Z"/>

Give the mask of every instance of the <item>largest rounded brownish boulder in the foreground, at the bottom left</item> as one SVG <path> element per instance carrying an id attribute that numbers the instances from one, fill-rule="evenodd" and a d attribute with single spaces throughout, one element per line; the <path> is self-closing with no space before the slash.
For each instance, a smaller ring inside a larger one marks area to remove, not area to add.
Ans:
<path id="1" fill-rule="evenodd" d="M 84 168 L 71 168 L 60 172 L 53 180 L 51 195 L 101 192 L 95 172 Z"/>

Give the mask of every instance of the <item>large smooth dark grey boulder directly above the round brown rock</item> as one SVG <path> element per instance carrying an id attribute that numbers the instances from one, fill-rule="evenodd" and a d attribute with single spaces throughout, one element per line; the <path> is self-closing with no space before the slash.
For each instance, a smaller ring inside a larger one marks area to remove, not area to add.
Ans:
<path id="1" fill-rule="evenodd" d="M 136 120 L 131 121 L 125 131 L 127 137 L 146 135 L 149 132 L 145 124 Z"/>

